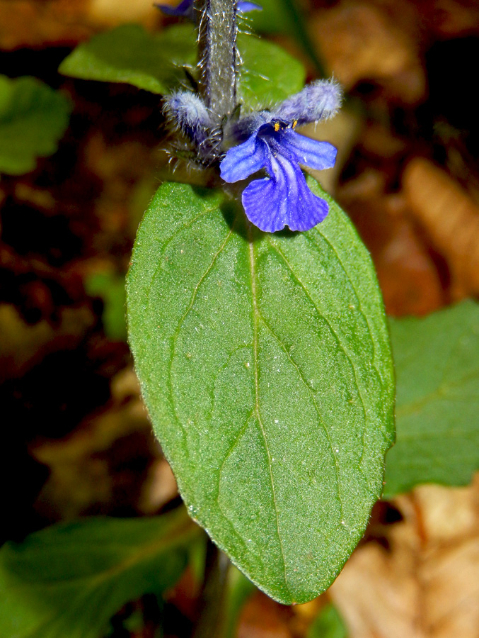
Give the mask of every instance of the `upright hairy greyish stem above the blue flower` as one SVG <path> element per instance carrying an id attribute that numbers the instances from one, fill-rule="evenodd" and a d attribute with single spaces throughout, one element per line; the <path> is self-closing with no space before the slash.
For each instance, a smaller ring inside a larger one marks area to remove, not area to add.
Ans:
<path id="1" fill-rule="evenodd" d="M 202 98 L 220 119 L 236 108 L 237 0 L 195 0 Z"/>

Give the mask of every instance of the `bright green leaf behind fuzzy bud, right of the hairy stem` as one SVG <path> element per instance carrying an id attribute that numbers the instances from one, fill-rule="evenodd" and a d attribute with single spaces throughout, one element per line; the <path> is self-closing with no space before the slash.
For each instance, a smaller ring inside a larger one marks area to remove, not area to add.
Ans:
<path id="1" fill-rule="evenodd" d="M 265 108 L 301 91 L 304 66 L 275 44 L 253 35 L 238 35 L 240 70 L 238 97 L 246 109 Z"/>

